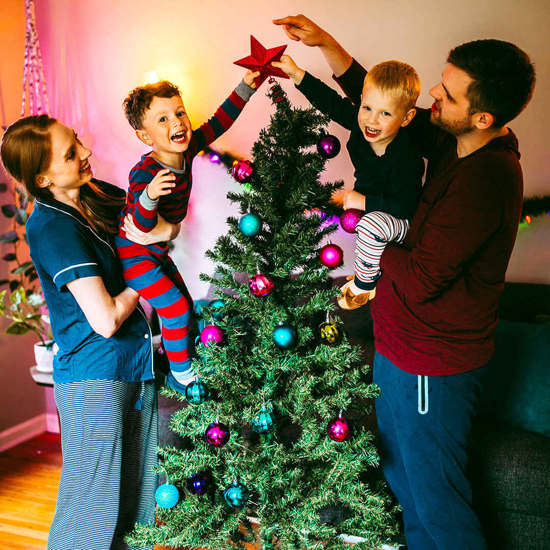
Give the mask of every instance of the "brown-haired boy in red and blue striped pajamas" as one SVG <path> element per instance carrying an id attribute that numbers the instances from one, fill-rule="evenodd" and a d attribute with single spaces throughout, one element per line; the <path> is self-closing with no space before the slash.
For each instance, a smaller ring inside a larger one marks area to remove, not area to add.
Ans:
<path id="1" fill-rule="evenodd" d="M 254 94 L 254 79 L 259 74 L 248 71 L 215 114 L 196 130 L 191 129 L 181 92 L 166 80 L 135 88 L 123 103 L 136 136 L 152 151 L 130 171 L 116 245 L 126 283 L 149 301 L 162 320 L 162 340 L 170 362 L 167 384 L 180 393 L 195 379 L 188 349 L 193 300 L 168 256 L 168 244 L 133 243 L 124 233 L 124 218 L 131 215 L 145 233 L 156 226 L 158 216 L 173 224 L 182 222 L 193 183 L 194 157 L 231 127 Z"/>

